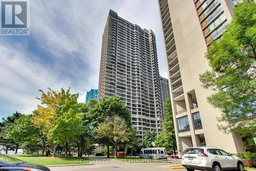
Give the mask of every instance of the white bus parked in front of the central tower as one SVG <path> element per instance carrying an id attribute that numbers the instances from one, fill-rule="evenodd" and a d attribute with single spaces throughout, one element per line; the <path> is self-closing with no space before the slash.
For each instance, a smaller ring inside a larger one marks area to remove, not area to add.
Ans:
<path id="1" fill-rule="evenodd" d="M 141 148 L 140 158 L 142 158 L 142 159 L 166 159 L 166 149 L 164 147 Z"/>

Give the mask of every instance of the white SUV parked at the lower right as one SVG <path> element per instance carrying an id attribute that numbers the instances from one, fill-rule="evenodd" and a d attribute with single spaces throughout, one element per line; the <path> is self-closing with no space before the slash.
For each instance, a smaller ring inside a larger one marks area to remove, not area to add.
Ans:
<path id="1" fill-rule="evenodd" d="M 217 147 L 187 148 L 182 154 L 181 163 L 188 171 L 194 171 L 195 169 L 212 171 L 236 169 L 244 171 L 244 165 L 240 158 Z"/>

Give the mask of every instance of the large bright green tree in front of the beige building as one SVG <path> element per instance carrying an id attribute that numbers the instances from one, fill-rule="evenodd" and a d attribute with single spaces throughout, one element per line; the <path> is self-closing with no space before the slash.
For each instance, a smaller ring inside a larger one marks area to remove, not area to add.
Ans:
<path id="1" fill-rule="evenodd" d="M 222 115 L 219 129 L 249 137 L 254 142 L 256 130 L 256 5 L 245 1 L 233 10 L 233 19 L 218 41 L 212 41 L 206 53 L 211 71 L 200 75 L 205 89 L 214 94 L 207 100 Z"/>

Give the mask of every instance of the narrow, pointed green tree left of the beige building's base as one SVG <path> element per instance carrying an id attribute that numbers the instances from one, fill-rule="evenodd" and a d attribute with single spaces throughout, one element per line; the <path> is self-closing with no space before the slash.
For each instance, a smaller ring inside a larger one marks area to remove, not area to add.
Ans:
<path id="1" fill-rule="evenodd" d="M 162 123 L 162 132 L 156 137 L 156 146 L 166 148 L 168 154 L 173 153 L 176 149 L 176 137 L 174 129 L 174 119 L 172 104 L 170 99 L 166 99 L 164 104 L 164 122 Z"/>

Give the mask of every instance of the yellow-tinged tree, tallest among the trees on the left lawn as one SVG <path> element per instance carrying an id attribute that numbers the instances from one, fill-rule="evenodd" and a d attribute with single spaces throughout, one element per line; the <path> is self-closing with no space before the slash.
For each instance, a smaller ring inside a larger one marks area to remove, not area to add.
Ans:
<path id="1" fill-rule="evenodd" d="M 49 133 L 57 124 L 60 116 L 68 112 L 71 108 L 76 109 L 78 94 L 71 94 L 70 88 L 67 91 L 63 88 L 60 91 L 54 91 L 48 88 L 46 93 L 42 90 L 39 90 L 39 92 L 41 92 L 41 97 L 37 97 L 37 99 L 40 100 L 40 104 L 37 105 L 37 109 L 33 112 L 33 123 L 42 133 L 42 137 L 44 137 L 42 142 L 43 156 L 49 137 L 51 137 L 50 139 L 54 143 L 53 151 L 56 150 L 57 140 L 53 140 Z M 63 134 L 65 133 L 63 132 Z"/>

